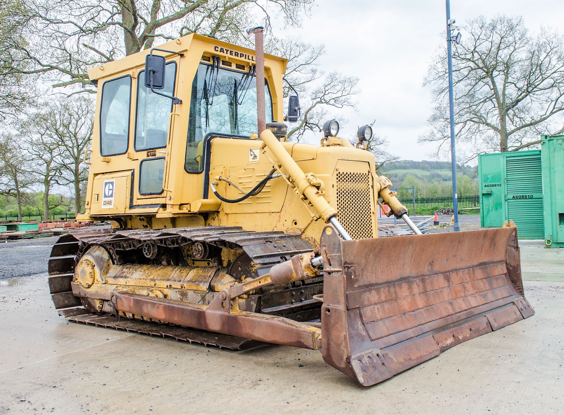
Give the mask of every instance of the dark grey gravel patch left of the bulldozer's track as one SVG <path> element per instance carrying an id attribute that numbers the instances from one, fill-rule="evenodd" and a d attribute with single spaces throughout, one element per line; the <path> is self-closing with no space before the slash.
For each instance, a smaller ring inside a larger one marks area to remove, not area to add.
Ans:
<path id="1" fill-rule="evenodd" d="M 51 247 L 59 237 L 0 242 L 0 279 L 47 272 Z"/>

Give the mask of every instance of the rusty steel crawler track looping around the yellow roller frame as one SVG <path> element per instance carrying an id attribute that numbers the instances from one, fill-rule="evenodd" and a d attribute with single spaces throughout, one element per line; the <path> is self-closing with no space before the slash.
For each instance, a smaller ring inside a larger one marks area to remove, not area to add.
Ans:
<path id="1" fill-rule="evenodd" d="M 130 320 L 105 313 L 91 313 L 83 307 L 81 299 L 73 295 L 70 285 L 78 258 L 92 245 L 101 245 L 111 250 L 124 243 L 131 243 L 132 240 L 135 243 L 151 241 L 165 247 L 177 246 L 186 241 L 200 241 L 218 247 L 241 248 L 258 265 L 259 276 L 266 274 L 272 265 L 288 260 L 294 255 L 310 252 L 312 249 L 311 245 L 299 235 L 284 234 L 280 231 L 245 231 L 239 226 L 160 230 L 76 230 L 62 235 L 53 246 L 49 259 L 49 290 L 55 309 L 59 310 L 59 315 L 68 321 L 139 334 L 171 337 L 190 343 L 201 343 L 205 346 L 217 346 L 231 350 L 243 350 L 261 343 L 186 327 Z"/>

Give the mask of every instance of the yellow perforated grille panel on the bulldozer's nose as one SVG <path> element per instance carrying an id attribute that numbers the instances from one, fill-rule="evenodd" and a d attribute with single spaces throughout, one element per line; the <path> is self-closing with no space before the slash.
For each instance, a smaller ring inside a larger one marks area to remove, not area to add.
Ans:
<path id="1" fill-rule="evenodd" d="M 369 173 L 337 173 L 337 212 L 353 239 L 373 238 L 372 191 Z"/>

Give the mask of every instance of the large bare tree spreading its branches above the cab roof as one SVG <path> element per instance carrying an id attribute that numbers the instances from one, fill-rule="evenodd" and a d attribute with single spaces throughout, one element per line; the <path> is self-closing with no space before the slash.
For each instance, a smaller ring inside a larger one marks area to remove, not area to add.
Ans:
<path id="1" fill-rule="evenodd" d="M 9 1 L 9 0 L 3 0 Z M 21 30 L 6 36 L 13 59 L 0 77 L 44 75 L 54 86 L 93 91 L 86 70 L 140 50 L 155 40 L 201 33 L 234 41 L 259 15 L 282 12 L 299 23 L 312 0 L 12 0 Z"/>

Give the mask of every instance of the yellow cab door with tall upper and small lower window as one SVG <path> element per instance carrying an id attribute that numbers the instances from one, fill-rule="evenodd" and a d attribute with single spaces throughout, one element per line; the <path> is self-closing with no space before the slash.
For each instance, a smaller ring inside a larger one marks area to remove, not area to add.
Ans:
<path id="1" fill-rule="evenodd" d="M 173 100 L 176 93 L 178 58 L 165 67 L 165 86 L 156 94 L 144 84 L 145 71 L 139 71 L 135 93 L 135 124 L 131 173 L 130 209 L 166 206 L 166 178 L 170 164 L 171 133 L 174 129 Z"/>

